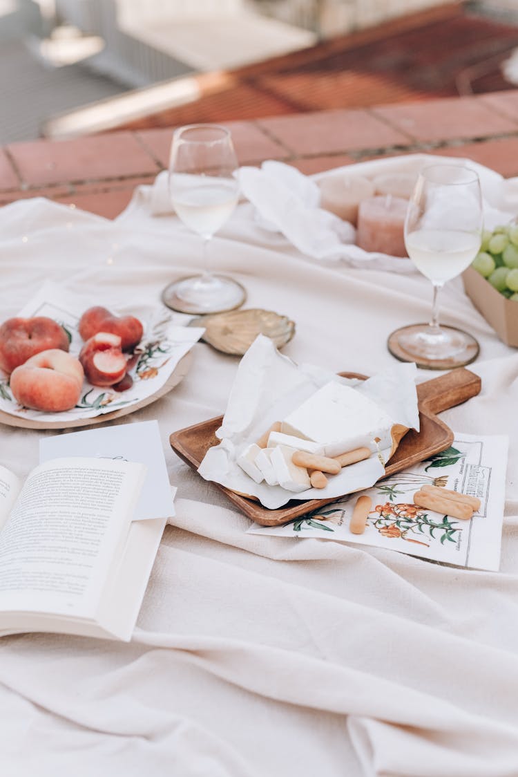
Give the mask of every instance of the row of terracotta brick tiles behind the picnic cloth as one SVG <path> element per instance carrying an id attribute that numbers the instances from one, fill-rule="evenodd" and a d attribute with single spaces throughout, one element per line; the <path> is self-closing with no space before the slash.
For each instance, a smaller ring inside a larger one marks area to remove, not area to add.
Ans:
<path id="1" fill-rule="evenodd" d="M 226 124 L 241 164 L 282 159 L 310 175 L 364 159 L 432 152 L 518 176 L 518 89 Z M 50 197 L 114 218 L 135 186 L 151 183 L 167 166 L 171 136 L 172 128 L 164 128 L 0 148 L 0 205 Z"/>

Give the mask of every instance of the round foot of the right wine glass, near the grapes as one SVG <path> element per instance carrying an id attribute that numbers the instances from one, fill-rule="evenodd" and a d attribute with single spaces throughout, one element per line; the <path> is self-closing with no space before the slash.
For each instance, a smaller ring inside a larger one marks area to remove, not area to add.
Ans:
<path id="1" fill-rule="evenodd" d="M 430 341 L 431 340 L 431 341 Z M 387 340 L 388 350 L 399 361 L 415 361 L 426 370 L 451 370 L 471 364 L 478 357 L 480 346 L 456 326 L 440 326 L 436 342 L 429 337 L 428 324 L 411 324 L 396 329 Z"/>

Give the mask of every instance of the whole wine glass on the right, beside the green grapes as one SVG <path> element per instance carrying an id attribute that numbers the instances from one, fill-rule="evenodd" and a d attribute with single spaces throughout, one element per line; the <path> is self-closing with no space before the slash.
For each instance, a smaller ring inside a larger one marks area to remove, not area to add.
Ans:
<path id="1" fill-rule="evenodd" d="M 415 267 L 433 284 L 432 319 L 396 329 L 388 350 L 401 361 L 444 370 L 478 356 L 475 337 L 439 324 L 439 292 L 461 274 L 478 253 L 482 235 L 480 182 L 474 170 L 438 164 L 422 170 L 405 218 L 405 246 Z"/>

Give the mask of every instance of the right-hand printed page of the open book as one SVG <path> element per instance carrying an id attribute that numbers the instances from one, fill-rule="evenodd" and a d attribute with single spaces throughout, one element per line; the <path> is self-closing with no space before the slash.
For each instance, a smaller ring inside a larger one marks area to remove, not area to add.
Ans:
<path id="1" fill-rule="evenodd" d="M 144 474 L 92 458 L 33 469 L 0 533 L 0 611 L 94 618 Z"/>

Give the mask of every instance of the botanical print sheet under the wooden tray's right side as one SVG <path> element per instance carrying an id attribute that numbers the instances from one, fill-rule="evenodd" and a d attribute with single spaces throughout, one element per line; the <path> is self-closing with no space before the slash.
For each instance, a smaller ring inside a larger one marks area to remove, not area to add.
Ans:
<path id="1" fill-rule="evenodd" d="M 362 534 L 349 530 L 360 493 L 353 493 L 278 527 L 252 526 L 252 534 L 331 539 L 394 549 L 439 563 L 498 570 L 502 539 L 508 439 L 457 434 L 454 443 L 426 462 L 360 492 L 372 507 Z M 477 497 L 468 520 L 419 507 L 414 494 L 438 486 Z"/>

